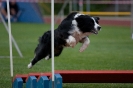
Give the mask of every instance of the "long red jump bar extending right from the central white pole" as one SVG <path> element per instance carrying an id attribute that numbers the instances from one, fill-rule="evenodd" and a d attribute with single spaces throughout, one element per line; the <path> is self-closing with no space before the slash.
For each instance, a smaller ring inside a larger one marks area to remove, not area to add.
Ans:
<path id="1" fill-rule="evenodd" d="M 133 83 L 133 70 L 109 71 L 55 71 L 63 78 L 63 83 Z"/>

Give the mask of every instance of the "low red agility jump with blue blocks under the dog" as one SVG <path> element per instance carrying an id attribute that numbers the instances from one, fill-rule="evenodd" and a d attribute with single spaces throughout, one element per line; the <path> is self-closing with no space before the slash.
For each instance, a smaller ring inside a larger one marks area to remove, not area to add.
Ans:
<path id="1" fill-rule="evenodd" d="M 51 73 L 18 74 L 13 88 L 52 88 Z M 55 71 L 55 88 L 62 83 L 133 83 L 133 70 L 60 70 Z"/>

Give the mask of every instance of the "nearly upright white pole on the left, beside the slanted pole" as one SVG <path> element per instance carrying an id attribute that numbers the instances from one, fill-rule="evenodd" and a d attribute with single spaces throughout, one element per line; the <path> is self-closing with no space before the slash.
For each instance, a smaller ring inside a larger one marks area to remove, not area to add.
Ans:
<path id="1" fill-rule="evenodd" d="M 9 0 L 7 0 L 7 14 L 8 14 L 8 29 L 9 29 L 9 47 L 10 47 L 10 72 L 11 72 L 11 77 L 13 78 L 12 39 L 11 39 Z"/>

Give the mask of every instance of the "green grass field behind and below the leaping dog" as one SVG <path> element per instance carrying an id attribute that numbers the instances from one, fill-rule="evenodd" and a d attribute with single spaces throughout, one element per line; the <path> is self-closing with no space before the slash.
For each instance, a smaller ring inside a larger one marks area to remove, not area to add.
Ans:
<path id="1" fill-rule="evenodd" d="M 41 60 L 32 69 L 27 64 L 34 57 L 38 38 L 50 29 L 46 24 L 13 23 L 12 34 L 24 57 L 20 58 L 13 46 L 14 76 L 30 72 L 51 72 L 51 60 Z M 91 35 L 90 45 L 80 53 L 75 48 L 65 48 L 55 58 L 55 70 L 133 70 L 133 40 L 130 27 L 102 26 L 98 35 Z M 8 34 L 0 24 L 0 56 L 9 56 Z M 0 58 L 0 88 L 11 88 L 10 60 Z M 81 83 L 63 84 L 63 88 L 133 88 L 133 84 Z"/>

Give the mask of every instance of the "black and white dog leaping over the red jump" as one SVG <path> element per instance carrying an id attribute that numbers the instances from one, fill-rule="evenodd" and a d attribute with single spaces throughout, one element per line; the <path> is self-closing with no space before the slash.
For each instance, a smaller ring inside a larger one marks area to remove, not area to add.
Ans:
<path id="1" fill-rule="evenodd" d="M 101 26 L 98 24 L 99 17 L 91 17 L 81 13 L 69 14 L 54 30 L 54 56 L 59 56 L 64 47 L 74 47 L 78 42 L 82 43 L 80 52 L 84 51 L 90 43 L 87 36 L 98 34 Z M 39 39 L 35 49 L 35 57 L 28 64 L 31 68 L 39 60 L 51 58 L 51 31 L 45 32 Z"/>

